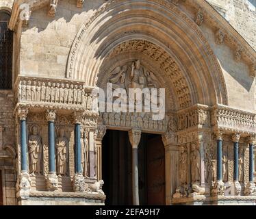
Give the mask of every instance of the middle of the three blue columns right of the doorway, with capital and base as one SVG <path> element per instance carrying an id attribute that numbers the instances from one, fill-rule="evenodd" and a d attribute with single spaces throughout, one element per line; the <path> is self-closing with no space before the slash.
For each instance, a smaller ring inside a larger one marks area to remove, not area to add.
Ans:
<path id="1" fill-rule="evenodd" d="M 233 195 L 241 194 L 241 185 L 238 181 L 238 149 L 239 149 L 239 140 L 240 134 L 235 133 L 232 136 L 233 140 L 233 161 L 234 161 L 234 169 L 233 169 Z"/>

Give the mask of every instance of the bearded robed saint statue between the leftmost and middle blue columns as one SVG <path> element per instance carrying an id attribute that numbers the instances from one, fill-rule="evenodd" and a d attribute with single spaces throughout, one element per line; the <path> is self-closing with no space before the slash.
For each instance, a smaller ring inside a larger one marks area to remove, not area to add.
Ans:
<path id="1" fill-rule="evenodd" d="M 42 155 L 42 143 L 41 137 L 38 134 L 38 127 L 34 125 L 32 127 L 32 134 L 29 136 L 29 173 L 34 175 L 40 174 L 41 170 L 41 155 Z"/>

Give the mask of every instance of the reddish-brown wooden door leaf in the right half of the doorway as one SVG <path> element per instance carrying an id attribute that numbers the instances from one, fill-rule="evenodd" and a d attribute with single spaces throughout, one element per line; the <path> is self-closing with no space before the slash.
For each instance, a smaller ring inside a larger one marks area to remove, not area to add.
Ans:
<path id="1" fill-rule="evenodd" d="M 165 205 L 165 151 L 161 136 L 147 141 L 148 205 Z"/>

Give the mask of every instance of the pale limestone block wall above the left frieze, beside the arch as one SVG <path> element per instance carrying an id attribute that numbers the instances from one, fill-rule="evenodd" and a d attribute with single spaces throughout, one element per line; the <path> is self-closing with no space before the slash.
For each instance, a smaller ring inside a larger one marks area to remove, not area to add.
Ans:
<path id="1" fill-rule="evenodd" d="M 29 28 L 21 35 L 21 74 L 65 77 L 68 53 L 82 23 L 105 1 L 86 1 L 77 8 L 76 1 L 59 1 L 55 18 L 44 7 L 31 14 Z"/>

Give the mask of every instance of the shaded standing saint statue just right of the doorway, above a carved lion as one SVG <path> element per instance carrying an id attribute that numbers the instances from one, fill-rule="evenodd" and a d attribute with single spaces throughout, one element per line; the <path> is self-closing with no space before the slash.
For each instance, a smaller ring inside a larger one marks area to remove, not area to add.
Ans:
<path id="1" fill-rule="evenodd" d="M 191 153 L 190 153 L 190 162 L 191 162 L 191 181 L 192 183 L 200 182 L 200 153 L 196 149 L 196 144 L 191 144 Z"/>

